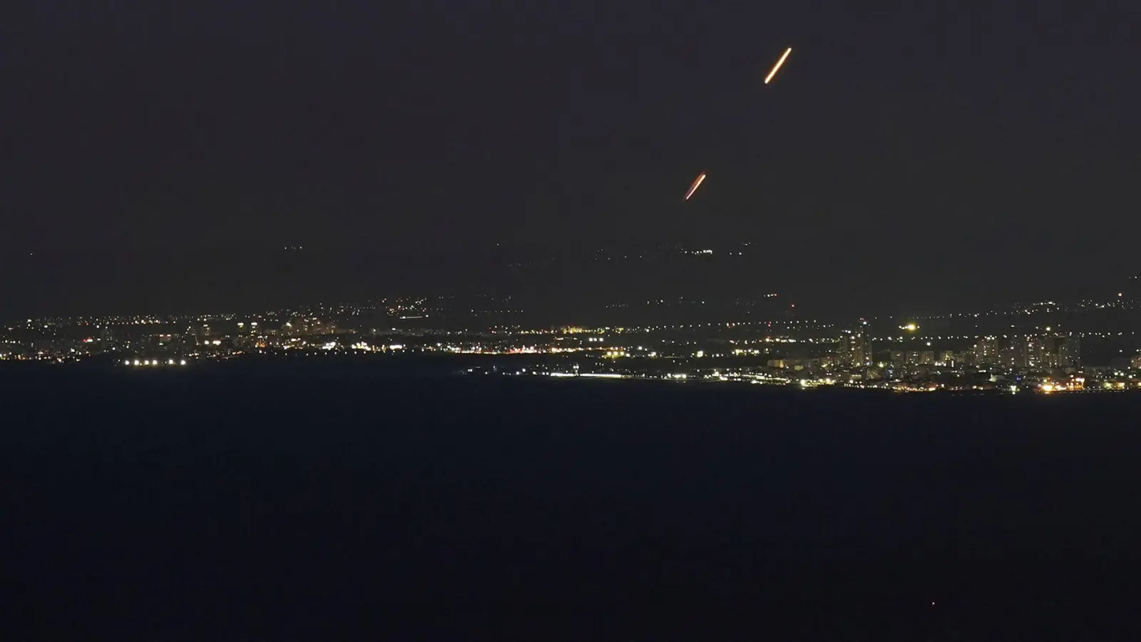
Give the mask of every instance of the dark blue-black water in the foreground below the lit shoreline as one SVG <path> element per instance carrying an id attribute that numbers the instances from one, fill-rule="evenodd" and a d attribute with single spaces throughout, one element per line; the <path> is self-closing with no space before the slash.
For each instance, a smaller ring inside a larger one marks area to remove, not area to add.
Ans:
<path id="1" fill-rule="evenodd" d="M 298 366 L 0 383 L 18 639 L 1141 629 L 1133 396 Z"/>

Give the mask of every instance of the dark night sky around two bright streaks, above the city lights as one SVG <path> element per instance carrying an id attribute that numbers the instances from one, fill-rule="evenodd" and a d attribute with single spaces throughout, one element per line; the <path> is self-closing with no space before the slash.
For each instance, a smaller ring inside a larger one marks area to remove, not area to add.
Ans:
<path id="1" fill-rule="evenodd" d="M 41 290 L 14 257 L 739 239 L 782 287 L 1135 272 L 1135 2 L 27 5 L 0 252 Z"/>

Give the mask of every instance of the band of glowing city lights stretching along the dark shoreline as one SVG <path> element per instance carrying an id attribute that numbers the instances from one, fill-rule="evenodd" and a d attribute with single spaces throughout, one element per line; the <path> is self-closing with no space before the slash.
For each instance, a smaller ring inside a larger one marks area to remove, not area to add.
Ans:
<path id="1" fill-rule="evenodd" d="M 678 254 L 720 257 L 734 252 L 697 246 L 680 248 Z M 743 297 L 735 305 L 755 306 L 766 296 Z M 512 355 L 517 361 L 510 368 L 475 369 L 475 372 L 500 376 L 688 379 L 728 385 L 879 388 L 899 393 L 1033 391 L 1059 395 L 1132 392 L 1141 387 L 1141 353 L 1133 347 L 1136 345 L 1135 331 L 1090 327 L 1089 322 L 1073 315 L 1067 318 L 1070 320 L 1066 321 L 1065 330 L 1055 330 L 1054 323 L 1061 318 L 1039 318 L 1037 324 L 1028 323 L 1025 318 L 1029 312 L 1103 310 L 1111 305 L 1106 300 L 1045 302 L 1013 306 L 1006 312 L 989 311 L 981 316 L 973 312 L 899 321 L 867 316 L 844 324 L 782 318 L 778 314 L 783 311 L 776 308 L 772 315 L 760 318 L 750 316 L 755 308 L 718 316 L 713 312 L 717 303 L 709 295 L 679 297 L 677 303 L 671 299 L 620 299 L 613 307 L 678 305 L 694 313 L 701 311 L 704 316 L 686 322 L 647 319 L 649 322 L 641 326 L 629 320 L 618 323 L 615 318 L 612 324 L 551 327 L 504 322 L 487 327 L 479 320 L 484 312 L 468 304 L 461 312 L 470 313 L 475 326 L 447 330 L 429 329 L 426 324 L 410 324 L 404 329 L 372 328 L 361 322 L 367 316 L 366 310 L 327 305 L 307 311 L 257 313 L 256 318 L 261 320 L 257 332 L 248 331 L 256 323 L 249 321 L 249 316 L 240 321 L 232 314 L 33 319 L 27 328 L 21 326 L 21 331 L 31 330 L 39 336 L 30 339 L 0 336 L 0 360 L 60 363 L 119 352 L 113 363 L 160 369 L 176 362 L 186 366 L 188 360 L 232 360 L 251 354 L 356 354 L 362 359 L 386 359 L 386 355 L 404 352 L 410 355 Z M 446 304 L 442 299 L 400 299 L 389 300 L 380 310 L 390 319 L 404 316 L 422 321 L 429 313 L 435 318 L 448 316 L 436 314 L 443 305 Z M 487 307 L 505 306 L 501 303 Z M 1003 319 L 1003 315 L 1010 318 Z M 990 316 L 986 321 L 988 326 L 982 324 L 986 316 Z M 949 321 L 958 318 L 966 319 Z M 933 319 L 948 321 L 931 321 Z M 99 337 L 90 336 L 90 328 L 96 324 L 105 328 Z M 921 324 L 926 332 L 921 330 Z M 68 326 L 74 326 L 75 330 L 66 330 Z M 116 335 L 114 330 L 124 326 L 129 328 Z M 64 336 L 68 331 L 72 338 Z M 1111 369 L 1083 367 L 1081 348 L 1086 340 L 1112 342 L 1109 344 L 1115 358 Z M 123 352 L 151 356 L 124 359 Z M 574 355 L 575 362 L 553 368 L 545 360 L 548 355 Z"/>

